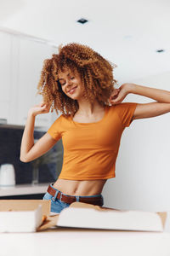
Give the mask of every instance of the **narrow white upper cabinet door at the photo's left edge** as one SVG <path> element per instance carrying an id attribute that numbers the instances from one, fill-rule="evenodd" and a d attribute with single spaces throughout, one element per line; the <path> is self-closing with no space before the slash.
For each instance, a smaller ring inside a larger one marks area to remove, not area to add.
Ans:
<path id="1" fill-rule="evenodd" d="M 11 36 L 0 32 L 0 119 L 8 119 L 11 84 Z"/>

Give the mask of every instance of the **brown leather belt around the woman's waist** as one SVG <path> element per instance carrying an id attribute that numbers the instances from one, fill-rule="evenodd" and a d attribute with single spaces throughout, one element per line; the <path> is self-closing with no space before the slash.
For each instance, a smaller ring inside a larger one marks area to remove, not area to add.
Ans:
<path id="1" fill-rule="evenodd" d="M 48 186 L 48 193 L 50 195 L 55 195 L 56 193 L 56 189 L 52 188 L 50 185 Z M 63 201 L 67 204 L 71 204 L 74 201 L 77 201 L 77 197 L 73 196 L 73 195 L 63 195 L 61 194 L 61 192 L 59 191 L 57 194 L 56 199 L 59 199 L 60 201 Z M 91 204 L 91 205 L 96 205 L 99 207 L 103 206 L 103 198 L 102 196 L 97 196 L 97 197 L 83 197 L 83 196 L 79 196 L 79 201 L 83 202 L 83 203 L 87 203 L 87 204 Z"/>

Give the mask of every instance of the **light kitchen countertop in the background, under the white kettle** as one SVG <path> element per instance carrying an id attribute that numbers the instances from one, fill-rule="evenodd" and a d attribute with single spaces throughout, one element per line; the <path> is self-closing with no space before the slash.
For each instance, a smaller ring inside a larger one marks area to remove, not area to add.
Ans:
<path id="1" fill-rule="evenodd" d="M 42 194 L 46 193 L 48 185 L 49 183 L 38 183 L 0 187 L 0 196 Z"/>

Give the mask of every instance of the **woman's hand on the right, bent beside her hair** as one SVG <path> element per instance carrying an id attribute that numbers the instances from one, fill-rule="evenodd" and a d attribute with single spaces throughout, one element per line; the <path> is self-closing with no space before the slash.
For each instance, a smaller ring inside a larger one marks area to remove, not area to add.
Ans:
<path id="1" fill-rule="evenodd" d="M 121 103 L 128 94 L 127 84 L 122 84 L 118 89 L 114 89 L 109 98 L 111 105 Z"/>

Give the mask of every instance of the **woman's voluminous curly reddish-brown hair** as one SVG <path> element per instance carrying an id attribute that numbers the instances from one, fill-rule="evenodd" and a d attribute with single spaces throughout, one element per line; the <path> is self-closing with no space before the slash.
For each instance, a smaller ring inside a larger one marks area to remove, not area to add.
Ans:
<path id="1" fill-rule="evenodd" d="M 66 96 L 59 84 L 59 73 L 66 69 L 79 74 L 84 88 L 84 97 L 91 103 L 96 99 L 100 105 L 108 105 L 109 96 L 116 84 L 110 61 L 83 44 L 66 44 L 59 46 L 59 54 L 43 62 L 37 94 L 41 94 L 44 102 L 51 104 L 51 111 L 61 112 L 65 116 L 73 116 L 78 110 L 77 100 Z"/>

